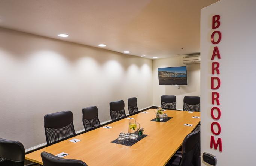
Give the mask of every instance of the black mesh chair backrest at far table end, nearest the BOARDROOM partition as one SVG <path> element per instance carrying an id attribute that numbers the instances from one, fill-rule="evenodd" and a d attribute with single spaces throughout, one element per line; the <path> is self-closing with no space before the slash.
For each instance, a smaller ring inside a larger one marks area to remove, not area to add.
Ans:
<path id="1" fill-rule="evenodd" d="M 183 111 L 196 111 L 200 112 L 200 97 L 198 96 L 185 96 Z"/>

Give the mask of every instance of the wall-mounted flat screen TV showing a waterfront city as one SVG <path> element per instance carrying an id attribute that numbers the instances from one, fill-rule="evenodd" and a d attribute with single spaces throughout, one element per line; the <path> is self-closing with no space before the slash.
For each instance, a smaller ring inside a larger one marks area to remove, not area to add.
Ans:
<path id="1" fill-rule="evenodd" d="M 158 68 L 159 85 L 187 85 L 187 67 Z"/>

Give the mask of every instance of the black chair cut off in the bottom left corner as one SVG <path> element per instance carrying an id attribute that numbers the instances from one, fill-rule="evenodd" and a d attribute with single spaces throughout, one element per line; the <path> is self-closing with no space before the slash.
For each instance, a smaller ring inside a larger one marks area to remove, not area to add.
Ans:
<path id="1" fill-rule="evenodd" d="M 0 138 L 0 166 L 24 166 L 25 148 L 19 141 Z M 38 165 L 37 163 L 25 166 Z"/>

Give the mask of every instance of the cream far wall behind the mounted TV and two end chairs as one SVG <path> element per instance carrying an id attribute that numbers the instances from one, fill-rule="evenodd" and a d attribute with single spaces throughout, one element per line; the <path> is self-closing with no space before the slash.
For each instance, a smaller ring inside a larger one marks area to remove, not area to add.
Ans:
<path id="1" fill-rule="evenodd" d="M 167 86 L 159 85 L 158 68 L 186 66 L 182 63 L 184 56 L 173 56 L 171 58 L 153 60 L 153 105 L 161 105 L 162 95 L 175 95 L 177 100 L 176 109 L 183 109 L 184 96 L 200 96 L 200 64 L 187 65 L 188 85 Z"/>

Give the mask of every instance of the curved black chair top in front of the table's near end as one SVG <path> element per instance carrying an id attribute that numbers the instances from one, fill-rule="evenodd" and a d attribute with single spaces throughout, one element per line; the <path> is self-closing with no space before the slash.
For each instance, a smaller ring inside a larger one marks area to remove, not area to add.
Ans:
<path id="1" fill-rule="evenodd" d="M 63 159 L 45 151 L 41 153 L 41 157 L 43 166 L 87 166 L 86 163 L 81 160 Z"/>

